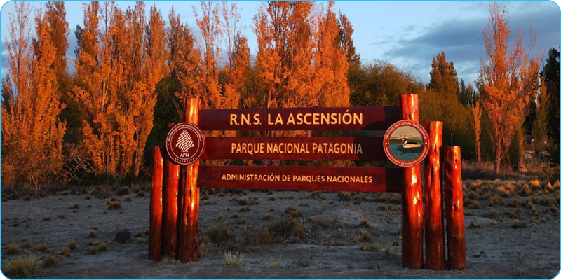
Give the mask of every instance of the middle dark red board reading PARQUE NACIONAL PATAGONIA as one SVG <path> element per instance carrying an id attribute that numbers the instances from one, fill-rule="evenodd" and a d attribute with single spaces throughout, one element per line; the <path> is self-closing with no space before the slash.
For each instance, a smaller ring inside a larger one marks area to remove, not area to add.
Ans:
<path id="1" fill-rule="evenodd" d="M 379 137 L 208 137 L 203 159 L 387 160 Z"/>

